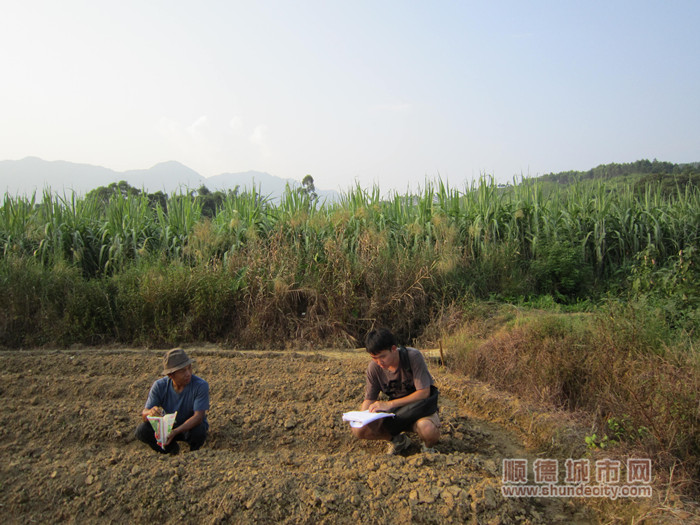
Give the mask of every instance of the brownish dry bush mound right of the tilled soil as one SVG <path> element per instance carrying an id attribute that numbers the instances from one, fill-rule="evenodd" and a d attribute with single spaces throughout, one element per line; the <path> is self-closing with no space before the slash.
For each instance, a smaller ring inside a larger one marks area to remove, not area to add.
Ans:
<path id="1" fill-rule="evenodd" d="M 450 365 L 524 400 L 586 411 L 598 441 L 634 441 L 658 467 L 676 461 L 697 479 L 700 358 L 692 338 L 670 346 L 672 333 L 664 312 L 646 302 L 610 303 L 596 314 L 519 311 L 463 340 Z"/>

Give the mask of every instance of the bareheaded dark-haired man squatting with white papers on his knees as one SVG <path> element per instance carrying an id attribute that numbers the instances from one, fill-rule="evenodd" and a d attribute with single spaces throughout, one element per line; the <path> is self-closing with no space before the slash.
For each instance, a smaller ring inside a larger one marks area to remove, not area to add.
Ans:
<path id="1" fill-rule="evenodd" d="M 389 441 L 387 453 L 398 454 L 411 446 L 404 432 L 413 430 L 423 441 L 422 450 L 432 451 L 440 439 L 439 392 L 423 354 L 415 348 L 399 348 L 394 335 L 385 328 L 367 334 L 365 348 L 372 362 L 367 367 L 360 410 L 393 412 L 395 416 L 351 427 L 352 433 L 360 439 Z M 380 392 L 389 400 L 379 401 Z"/>

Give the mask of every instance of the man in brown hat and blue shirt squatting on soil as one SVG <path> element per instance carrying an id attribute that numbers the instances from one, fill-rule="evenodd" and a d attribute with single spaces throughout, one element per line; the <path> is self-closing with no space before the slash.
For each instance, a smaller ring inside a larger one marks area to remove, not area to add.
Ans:
<path id="1" fill-rule="evenodd" d="M 209 384 L 192 374 L 192 359 L 182 348 L 168 350 L 163 356 L 163 376 L 151 386 L 136 437 L 156 452 L 177 454 L 180 447 L 176 441 L 186 441 L 190 450 L 197 450 L 204 444 L 209 430 L 206 416 Z M 163 450 L 147 417 L 174 412 L 177 412 L 175 424 Z"/>

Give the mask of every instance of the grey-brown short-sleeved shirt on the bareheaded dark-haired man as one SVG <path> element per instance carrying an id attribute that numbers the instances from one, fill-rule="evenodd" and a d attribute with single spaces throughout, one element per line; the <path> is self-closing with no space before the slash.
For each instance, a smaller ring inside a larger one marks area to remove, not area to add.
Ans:
<path id="1" fill-rule="evenodd" d="M 392 395 L 390 395 L 391 399 L 397 399 L 405 397 L 416 390 L 430 388 L 430 385 L 433 384 L 433 377 L 428 372 L 428 366 L 425 364 L 423 354 L 421 354 L 420 350 L 410 347 L 406 347 L 406 351 L 408 352 L 408 362 L 411 364 L 411 371 L 413 372 L 413 386 L 415 389 L 409 391 L 405 387 L 406 382 L 410 378 L 407 377 L 400 361 L 395 372 L 385 370 L 372 361 L 367 367 L 365 399 L 376 401 L 379 397 L 379 392 L 387 393 L 388 391 L 392 392 Z M 393 388 L 390 388 L 390 383 Z"/>

